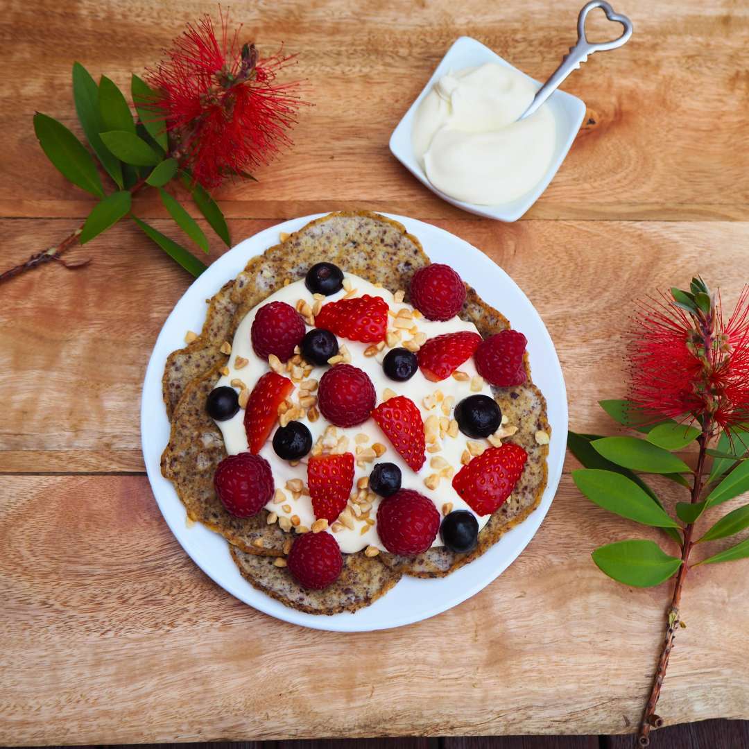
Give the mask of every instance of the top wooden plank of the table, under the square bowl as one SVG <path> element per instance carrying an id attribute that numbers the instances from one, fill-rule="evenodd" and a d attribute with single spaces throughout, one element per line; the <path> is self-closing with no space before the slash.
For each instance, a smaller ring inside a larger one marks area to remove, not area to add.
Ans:
<path id="1" fill-rule="evenodd" d="M 366 7 L 279 0 L 232 8 L 262 49 L 285 41 L 300 52 L 290 74 L 309 82 L 306 96 L 316 106 L 300 116 L 294 151 L 258 169 L 260 184 L 228 186 L 219 197 L 240 217 L 351 205 L 458 216 L 389 155 L 389 134 L 460 34 L 543 78 L 574 42 L 579 8 L 579 0 L 560 0 L 554 13 L 544 0 L 501 6 L 434 0 L 428 7 L 407 0 Z M 184 23 L 204 10 L 198 0 L 169 0 L 123 13 L 116 0 L 82 0 L 61 14 L 58 4 L 41 0 L 16 3 L 3 14 L 0 215 L 88 212 L 85 195 L 37 148 L 32 113 L 73 124 L 74 60 L 129 87 L 130 72 L 155 64 Z M 739 106 L 748 85 L 749 7 L 733 0 L 655 6 L 631 0 L 626 10 L 635 28 L 631 42 L 595 55 L 565 82 L 586 101 L 595 124 L 580 133 L 527 218 L 748 219 L 749 153 L 737 143 L 749 129 L 749 110 Z M 40 17 L 48 20 L 40 25 Z M 56 51 L 41 67 L 40 49 Z M 147 213 L 160 210 L 151 203 Z"/>

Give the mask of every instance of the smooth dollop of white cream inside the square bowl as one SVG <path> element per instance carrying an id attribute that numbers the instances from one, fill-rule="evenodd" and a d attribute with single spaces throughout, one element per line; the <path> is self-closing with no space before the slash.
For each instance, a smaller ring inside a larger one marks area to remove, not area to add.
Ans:
<path id="1" fill-rule="evenodd" d="M 536 187 L 554 157 L 547 104 L 524 120 L 536 84 L 495 63 L 440 78 L 413 118 L 411 144 L 431 184 L 457 200 L 501 205 Z"/>

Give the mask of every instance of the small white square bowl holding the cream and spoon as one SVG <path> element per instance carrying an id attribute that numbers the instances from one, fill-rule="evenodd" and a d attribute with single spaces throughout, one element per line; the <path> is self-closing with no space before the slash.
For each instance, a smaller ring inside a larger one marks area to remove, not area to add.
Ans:
<path id="1" fill-rule="evenodd" d="M 554 114 L 554 121 L 557 123 L 557 148 L 554 150 L 554 159 L 549 165 L 548 172 L 544 175 L 542 181 L 536 185 L 530 192 L 526 192 L 525 195 L 521 195 L 519 198 L 509 202 L 503 203 L 502 205 L 477 205 L 475 203 L 465 203 L 461 200 L 455 200 L 449 195 L 445 195 L 428 180 L 419 162 L 416 160 L 416 156 L 413 154 L 413 148 L 411 147 L 411 126 L 413 124 L 413 116 L 416 113 L 416 109 L 419 107 L 422 99 L 431 90 L 431 87 L 439 80 L 443 75 L 449 73 L 450 70 L 461 70 L 464 67 L 475 67 L 487 62 L 494 62 L 505 67 L 512 67 L 512 70 L 518 70 L 513 67 L 509 62 L 503 60 L 500 55 L 493 52 L 488 46 L 485 46 L 481 42 L 472 37 L 460 37 L 455 40 L 447 54 L 442 58 L 442 61 L 437 66 L 437 70 L 434 71 L 429 82 L 423 88 L 421 94 L 416 97 L 416 101 L 410 106 L 410 109 L 406 112 L 403 119 L 398 123 L 398 127 L 392 131 L 390 136 L 390 151 L 403 166 L 408 169 L 411 174 L 416 177 L 419 181 L 426 185 L 432 192 L 439 195 L 440 198 L 446 200 L 448 203 L 467 210 L 469 213 L 476 213 L 479 216 L 486 216 L 489 219 L 497 219 L 497 221 L 517 221 L 538 199 L 539 196 L 548 187 L 548 184 L 554 179 L 554 175 L 557 174 L 557 170 L 562 166 L 567 155 L 574 137 L 577 135 L 577 131 L 580 130 L 580 125 L 583 124 L 583 118 L 585 117 L 585 103 L 583 100 L 578 99 L 572 94 L 567 94 L 565 91 L 554 91 L 551 97 L 548 98 L 547 104 L 551 107 Z M 549 73 L 552 71 L 550 70 Z M 541 87 L 541 83 L 536 79 L 527 76 L 522 70 L 518 70 L 518 73 L 525 76 L 528 80 L 533 81 L 538 88 Z"/>

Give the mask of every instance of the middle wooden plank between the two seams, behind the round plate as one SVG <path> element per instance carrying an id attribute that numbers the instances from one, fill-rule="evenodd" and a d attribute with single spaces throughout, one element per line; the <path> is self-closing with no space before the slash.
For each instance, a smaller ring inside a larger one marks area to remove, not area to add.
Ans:
<path id="1" fill-rule="evenodd" d="M 239 240 L 271 223 L 232 221 L 232 236 Z M 21 261 L 72 225 L 1 221 L 3 261 Z M 166 221 L 155 225 L 178 236 Z M 623 395 L 620 336 L 634 297 L 699 272 L 723 286 L 730 306 L 749 276 L 745 223 L 458 219 L 437 225 L 486 252 L 536 305 L 557 345 L 570 422 L 580 431 L 611 427 L 596 401 Z M 219 244 L 209 258 L 222 252 Z M 115 227 L 71 256 L 94 261 L 75 271 L 47 266 L 2 290 L 0 386 L 12 397 L 0 422 L 0 471 L 143 470 L 143 374 L 190 278 L 132 225 Z M 501 300 L 490 301 L 502 309 Z M 504 311 L 512 320 L 512 310 Z"/>

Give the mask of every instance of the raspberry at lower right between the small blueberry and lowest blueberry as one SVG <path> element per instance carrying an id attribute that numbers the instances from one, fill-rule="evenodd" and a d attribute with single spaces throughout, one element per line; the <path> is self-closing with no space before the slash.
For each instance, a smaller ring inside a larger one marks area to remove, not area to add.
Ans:
<path id="1" fill-rule="evenodd" d="M 396 491 L 377 508 L 377 534 L 391 554 L 421 554 L 437 538 L 438 530 L 440 513 L 418 491 Z"/>

